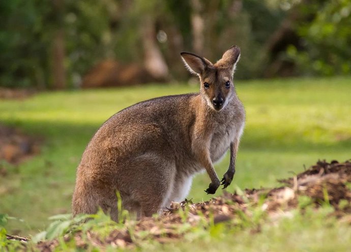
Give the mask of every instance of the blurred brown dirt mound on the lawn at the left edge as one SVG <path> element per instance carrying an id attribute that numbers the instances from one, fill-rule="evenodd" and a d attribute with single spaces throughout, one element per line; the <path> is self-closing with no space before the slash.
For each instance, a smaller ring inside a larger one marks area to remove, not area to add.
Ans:
<path id="1" fill-rule="evenodd" d="M 17 129 L 0 124 L 0 161 L 18 164 L 39 153 L 39 142 L 40 140 L 28 137 Z"/>

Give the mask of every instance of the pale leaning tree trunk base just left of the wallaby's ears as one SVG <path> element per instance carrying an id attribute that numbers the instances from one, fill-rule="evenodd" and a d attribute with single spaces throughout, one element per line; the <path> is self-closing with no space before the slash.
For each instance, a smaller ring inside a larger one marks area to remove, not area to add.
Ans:
<path id="1" fill-rule="evenodd" d="M 141 20 L 144 67 L 156 80 L 166 80 L 168 67 L 157 45 L 155 22 L 150 16 L 145 16 Z"/>

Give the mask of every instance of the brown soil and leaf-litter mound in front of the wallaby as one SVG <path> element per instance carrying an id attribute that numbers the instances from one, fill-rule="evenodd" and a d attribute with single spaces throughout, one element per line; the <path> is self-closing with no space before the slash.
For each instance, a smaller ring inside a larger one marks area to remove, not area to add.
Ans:
<path id="1" fill-rule="evenodd" d="M 104 248 L 106 245 L 115 247 L 133 247 L 139 242 L 153 239 L 160 243 L 182 239 L 187 235 L 181 231 L 182 225 L 188 223 L 196 226 L 199 222 L 227 223 L 228 225 L 240 225 L 240 215 L 243 213 L 250 218 L 252 209 L 260 207 L 266 212 L 267 218 L 279 219 L 291 209 L 299 206 L 299 196 L 307 196 L 311 200 L 312 207 L 318 208 L 328 203 L 334 207 L 332 215 L 343 222 L 351 224 L 351 163 L 346 161 L 338 163 L 332 161 L 318 161 L 308 170 L 288 179 L 280 180 L 284 185 L 277 188 L 246 189 L 234 194 L 225 193 L 223 196 L 213 198 L 210 201 L 192 203 L 185 200 L 181 203 L 172 203 L 169 210 L 158 218 L 143 218 L 139 222 L 126 222 L 122 229 L 113 230 L 106 238 L 101 238 L 93 231 L 75 232 L 66 234 L 64 240 L 74 240 L 76 245 L 86 248 L 86 242 Z M 340 201 L 343 204 L 339 204 Z M 342 206 L 341 206 L 342 205 Z M 188 214 L 184 216 L 187 209 Z M 303 214 L 303 212 L 302 212 Z M 212 218 L 213 217 L 213 218 Z M 238 220 L 236 222 L 236 220 Z M 133 238 L 127 227 L 132 227 Z M 259 225 L 252 232 L 260 232 Z M 145 235 L 146 233 L 146 235 Z M 83 239 L 83 237 L 86 237 Z M 52 251 L 58 245 L 57 240 L 45 241 L 38 244 L 41 251 Z"/>

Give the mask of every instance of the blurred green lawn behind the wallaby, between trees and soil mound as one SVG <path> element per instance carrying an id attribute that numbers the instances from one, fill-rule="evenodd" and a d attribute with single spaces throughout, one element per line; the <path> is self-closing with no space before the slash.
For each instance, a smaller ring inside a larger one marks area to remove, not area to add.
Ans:
<path id="1" fill-rule="evenodd" d="M 235 185 L 228 191 L 236 185 L 274 186 L 277 178 L 300 172 L 303 164 L 309 166 L 318 159 L 350 159 L 349 79 L 237 81 L 247 121 Z M 0 177 L 0 213 L 25 220 L 25 224 L 11 220 L 9 233 L 36 233 L 47 226 L 49 216 L 70 212 L 76 166 L 86 144 L 108 117 L 142 100 L 197 89 L 159 84 L 43 92 L 23 101 L 0 101 L 0 122 L 44 138 L 40 155 L 18 167 L 6 165 L 9 175 Z M 215 165 L 219 177 L 227 166 L 228 156 Z M 189 198 L 193 202 L 209 199 L 203 192 L 209 182 L 206 174 L 197 175 Z"/>

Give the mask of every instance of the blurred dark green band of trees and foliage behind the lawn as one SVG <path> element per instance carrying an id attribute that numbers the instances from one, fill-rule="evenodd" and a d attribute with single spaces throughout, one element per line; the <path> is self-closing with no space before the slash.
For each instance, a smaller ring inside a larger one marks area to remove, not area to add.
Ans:
<path id="1" fill-rule="evenodd" d="M 106 59 L 159 60 L 162 81 L 182 80 L 180 51 L 215 60 L 232 44 L 237 78 L 347 74 L 350 11 L 348 0 L 2 1 L 0 86 L 78 87 Z"/>

